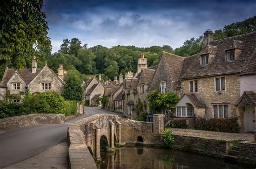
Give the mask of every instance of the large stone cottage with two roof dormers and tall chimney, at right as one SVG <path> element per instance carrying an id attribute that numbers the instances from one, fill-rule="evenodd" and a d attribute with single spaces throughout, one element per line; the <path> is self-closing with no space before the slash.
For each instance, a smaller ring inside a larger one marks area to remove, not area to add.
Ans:
<path id="1" fill-rule="evenodd" d="M 241 130 L 254 131 L 254 103 L 243 100 L 254 99 L 256 32 L 213 40 L 213 32 L 206 30 L 204 43 L 198 54 L 184 59 L 176 115 L 207 119 L 239 116 Z"/>

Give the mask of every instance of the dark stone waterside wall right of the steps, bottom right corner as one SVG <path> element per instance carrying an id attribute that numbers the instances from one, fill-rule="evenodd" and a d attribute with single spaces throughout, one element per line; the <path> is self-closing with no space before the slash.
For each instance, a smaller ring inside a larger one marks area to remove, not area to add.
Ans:
<path id="1" fill-rule="evenodd" d="M 256 144 L 240 142 L 238 145 L 238 161 L 256 165 Z"/>

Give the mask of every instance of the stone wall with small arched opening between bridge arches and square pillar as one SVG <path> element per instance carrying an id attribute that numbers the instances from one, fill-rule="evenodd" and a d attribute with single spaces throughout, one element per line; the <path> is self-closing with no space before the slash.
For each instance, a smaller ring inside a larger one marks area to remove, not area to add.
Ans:
<path id="1" fill-rule="evenodd" d="M 137 138 L 143 138 L 144 145 L 160 144 L 160 134 L 153 133 L 153 123 L 134 121 L 127 118 L 118 118 L 122 124 L 121 144 L 136 144 Z"/>

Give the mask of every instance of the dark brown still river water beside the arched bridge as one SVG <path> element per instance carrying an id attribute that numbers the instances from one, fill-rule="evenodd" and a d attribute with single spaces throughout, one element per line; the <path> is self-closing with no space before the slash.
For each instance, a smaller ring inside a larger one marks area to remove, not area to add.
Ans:
<path id="1" fill-rule="evenodd" d="M 254 168 L 196 153 L 154 147 L 120 147 L 114 153 L 100 152 L 98 168 Z"/>

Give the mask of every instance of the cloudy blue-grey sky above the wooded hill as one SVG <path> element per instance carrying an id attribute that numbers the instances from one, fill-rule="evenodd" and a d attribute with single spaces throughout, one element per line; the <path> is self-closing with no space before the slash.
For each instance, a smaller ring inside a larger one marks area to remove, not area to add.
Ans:
<path id="1" fill-rule="evenodd" d="M 44 0 L 52 52 L 74 37 L 88 47 L 170 45 L 256 15 L 256 1 Z"/>

